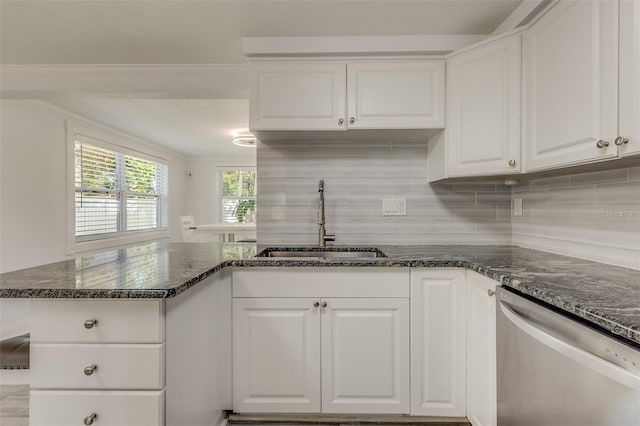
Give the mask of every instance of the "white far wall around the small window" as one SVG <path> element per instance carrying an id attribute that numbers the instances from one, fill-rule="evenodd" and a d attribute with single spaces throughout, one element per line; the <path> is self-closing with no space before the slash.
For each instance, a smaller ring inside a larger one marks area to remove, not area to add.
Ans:
<path id="1" fill-rule="evenodd" d="M 253 149 L 255 148 L 246 148 Z M 256 158 L 190 158 L 188 163 L 189 211 L 196 225 L 218 223 L 220 182 L 218 167 L 255 167 Z"/>

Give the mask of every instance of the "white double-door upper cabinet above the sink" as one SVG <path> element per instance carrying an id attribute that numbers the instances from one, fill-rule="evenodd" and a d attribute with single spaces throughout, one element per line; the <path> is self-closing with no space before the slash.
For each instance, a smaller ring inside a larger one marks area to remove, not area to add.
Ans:
<path id="1" fill-rule="evenodd" d="M 257 62 L 250 79 L 253 131 L 444 127 L 440 59 Z"/>

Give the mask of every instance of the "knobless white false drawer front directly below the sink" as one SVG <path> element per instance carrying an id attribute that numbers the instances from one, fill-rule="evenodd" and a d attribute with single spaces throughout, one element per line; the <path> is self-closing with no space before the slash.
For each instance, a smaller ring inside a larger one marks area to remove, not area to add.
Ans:
<path id="1" fill-rule="evenodd" d="M 409 297 L 409 268 L 247 268 L 233 297 Z"/>

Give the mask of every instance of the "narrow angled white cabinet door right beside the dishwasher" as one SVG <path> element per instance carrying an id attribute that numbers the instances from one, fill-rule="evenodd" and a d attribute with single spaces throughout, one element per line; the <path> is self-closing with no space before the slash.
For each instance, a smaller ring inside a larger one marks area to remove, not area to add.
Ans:
<path id="1" fill-rule="evenodd" d="M 474 426 L 497 422 L 497 281 L 476 272 L 467 282 L 467 418 Z"/>

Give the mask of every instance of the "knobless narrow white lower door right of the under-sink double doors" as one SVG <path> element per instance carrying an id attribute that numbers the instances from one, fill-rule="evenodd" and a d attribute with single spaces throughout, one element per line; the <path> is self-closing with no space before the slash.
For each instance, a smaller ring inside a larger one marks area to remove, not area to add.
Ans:
<path id="1" fill-rule="evenodd" d="M 411 270 L 411 414 L 465 415 L 464 304 L 464 270 Z"/>

